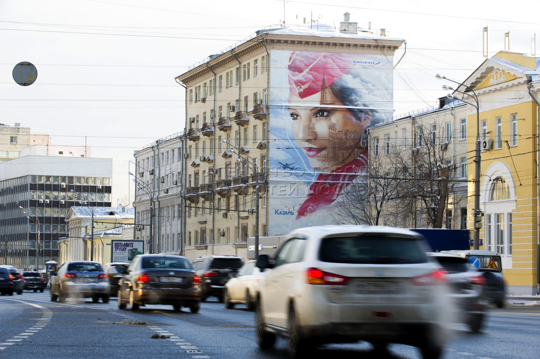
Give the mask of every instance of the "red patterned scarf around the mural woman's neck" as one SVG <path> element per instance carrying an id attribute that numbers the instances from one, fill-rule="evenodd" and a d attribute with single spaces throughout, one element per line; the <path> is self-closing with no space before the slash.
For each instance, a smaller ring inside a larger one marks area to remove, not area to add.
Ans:
<path id="1" fill-rule="evenodd" d="M 315 182 L 309 186 L 307 199 L 298 208 L 296 219 L 315 212 L 317 209 L 330 206 L 343 192 L 350 182 L 366 166 L 367 150 L 362 153 L 362 159 L 356 158 L 343 167 L 330 173 L 321 173 Z"/>

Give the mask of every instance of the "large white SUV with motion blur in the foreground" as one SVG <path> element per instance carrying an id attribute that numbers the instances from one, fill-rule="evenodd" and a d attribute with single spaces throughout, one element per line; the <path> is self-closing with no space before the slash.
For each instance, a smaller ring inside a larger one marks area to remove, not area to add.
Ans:
<path id="1" fill-rule="evenodd" d="M 296 229 L 266 268 L 257 306 L 257 340 L 289 338 L 289 355 L 318 344 L 365 340 L 419 347 L 438 358 L 444 345 L 444 269 L 407 229 L 321 226 Z"/>

